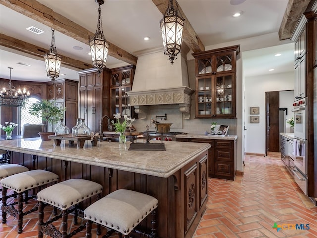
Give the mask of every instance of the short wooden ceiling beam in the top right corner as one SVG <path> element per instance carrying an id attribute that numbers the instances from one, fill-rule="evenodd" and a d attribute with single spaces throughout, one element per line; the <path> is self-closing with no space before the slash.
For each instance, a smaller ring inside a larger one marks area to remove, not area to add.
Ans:
<path id="1" fill-rule="evenodd" d="M 281 26 L 278 31 L 279 39 L 286 40 L 291 38 L 297 23 L 303 12 L 305 12 L 310 0 L 289 0 Z"/>

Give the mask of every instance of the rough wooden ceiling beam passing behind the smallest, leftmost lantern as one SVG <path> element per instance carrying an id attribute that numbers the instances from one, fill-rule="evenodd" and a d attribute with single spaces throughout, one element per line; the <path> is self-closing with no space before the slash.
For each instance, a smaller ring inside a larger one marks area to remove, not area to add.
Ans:
<path id="1" fill-rule="evenodd" d="M 4 35 L 2 33 L 0 34 L 0 45 L 30 54 L 32 56 L 40 57 L 43 59 L 43 62 L 44 62 L 43 55 L 47 53 L 48 51 L 48 49 L 43 49 L 36 45 L 32 45 L 30 43 L 15 39 L 13 37 Z M 79 60 L 74 60 L 72 58 L 69 58 L 63 55 L 60 55 L 60 56 L 62 59 L 61 60 L 62 65 L 67 65 L 67 66 L 78 68 L 78 69 L 88 69 L 93 67 L 93 65 L 81 62 Z"/>

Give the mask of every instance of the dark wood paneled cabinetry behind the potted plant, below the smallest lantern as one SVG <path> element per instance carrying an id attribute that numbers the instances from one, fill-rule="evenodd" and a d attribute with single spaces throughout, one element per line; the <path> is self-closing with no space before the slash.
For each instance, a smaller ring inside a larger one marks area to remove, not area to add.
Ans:
<path id="1" fill-rule="evenodd" d="M 57 107 L 66 107 L 64 123 L 69 128 L 76 125 L 78 117 L 78 82 L 69 79 L 56 80 L 47 85 L 47 99 L 54 100 Z M 57 125 L 48 125 L 54 131 Z"/>

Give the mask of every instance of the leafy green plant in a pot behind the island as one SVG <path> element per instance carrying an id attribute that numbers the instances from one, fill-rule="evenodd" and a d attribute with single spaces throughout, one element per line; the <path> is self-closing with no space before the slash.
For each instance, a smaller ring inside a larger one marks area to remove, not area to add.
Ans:
<path id="1" fill-rule="evenodd" d="M 29 113 L 33 116 L 42 117 L 45 121 L 44 132 L 39 132 L 42 140 L 49 140 L 49 135 L 54 135 L 54 132 L 47 132 L 47 123 L 56 124 L 60 119 L 64 118 L 65 107 L 57 107 L 54 101 L 41 100 L 32 103 L 29 108 Z"/>

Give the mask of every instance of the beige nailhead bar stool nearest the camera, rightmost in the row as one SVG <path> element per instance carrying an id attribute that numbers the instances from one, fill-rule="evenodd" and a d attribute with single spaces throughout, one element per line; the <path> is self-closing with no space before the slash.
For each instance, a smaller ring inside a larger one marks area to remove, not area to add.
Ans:
<path id="1" fill-rule="evenodd" d="M 158 200 L 152 196 L 126 189 L 116 190 L 102 199 L 94 202 L 84 211 L 86 222 L 86 238 L 91 238 L 92 223 L 97 223 L 97 235 L 100 235 L 100 225 L 110 229 L 103 237 L 110 237 L 118 232 L 119 237 L 128 238 L 132 230 L 150 213 L 151 233 L 137 231 L 146 237 L 156 237 L 155 209 Z M 135 230 L 136 231 L 136 230 Z"/>

